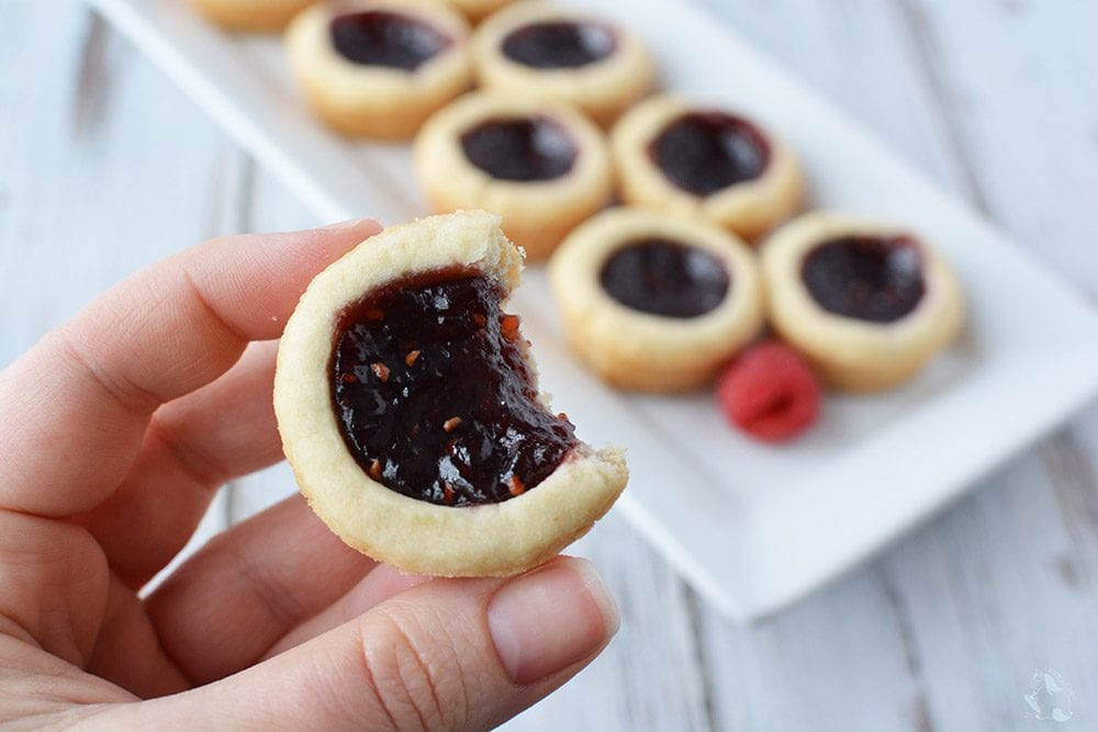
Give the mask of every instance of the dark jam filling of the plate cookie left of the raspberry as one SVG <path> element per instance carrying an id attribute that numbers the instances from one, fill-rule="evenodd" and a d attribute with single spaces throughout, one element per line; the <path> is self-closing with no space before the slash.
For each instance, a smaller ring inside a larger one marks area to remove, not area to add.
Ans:
<path id="1" fill-rule="evenodd" d="M 603 264 L 600 281 L 626 307 L 680 318 L 716 308 L 731 285 L 728 270 L 709 252 L 659 238 L 615 251 Z"/>

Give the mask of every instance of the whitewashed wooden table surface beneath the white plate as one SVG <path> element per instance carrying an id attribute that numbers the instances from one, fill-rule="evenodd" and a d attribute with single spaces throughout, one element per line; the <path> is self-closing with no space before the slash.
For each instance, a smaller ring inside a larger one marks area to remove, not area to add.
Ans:
<path id="1" fill-rule="evenodd" d="M 1098 300 L 1094 0 L 696 1 Z M 0 0 L 0 365 L 156 259 L 313 223 L 83 4 Z M 1096 462 L 1090 405 L 748 627 L 612 514 L 579 549 L 616 594 L 621 632 L 511 729 L 1098 729 Z M 292 491 L 284 468 L 229 486 L 198 540 Z M 1027 703 L 1046 668 L 1074 689 L 1066 722 Z"/>

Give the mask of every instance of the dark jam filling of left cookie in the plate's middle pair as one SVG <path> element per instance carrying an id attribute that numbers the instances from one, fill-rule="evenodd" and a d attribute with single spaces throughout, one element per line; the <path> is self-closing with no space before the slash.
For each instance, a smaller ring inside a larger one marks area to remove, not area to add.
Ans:
<path id="1" fill-rule="evenodd" d="M 547 116 L 488 120 L 461 135 L 474 166 L 500 180 L 552 180 L 567 174 L 578 150 L 568 129 Z"/>

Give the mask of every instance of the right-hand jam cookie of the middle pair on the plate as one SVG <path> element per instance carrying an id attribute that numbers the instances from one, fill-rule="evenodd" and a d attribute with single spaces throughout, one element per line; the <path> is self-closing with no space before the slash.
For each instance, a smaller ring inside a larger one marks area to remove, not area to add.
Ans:
<path id="1" fill-rule="evenodd" d="M 789 146 L 726 110 L 654 97 L 621 117 L 610 145 L 628 203 L 702 215 L 747 239 L 800 205 L 800 166 Z"/>

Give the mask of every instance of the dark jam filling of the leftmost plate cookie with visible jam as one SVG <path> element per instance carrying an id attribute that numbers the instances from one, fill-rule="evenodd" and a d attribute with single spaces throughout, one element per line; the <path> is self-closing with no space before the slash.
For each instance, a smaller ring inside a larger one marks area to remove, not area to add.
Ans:
<path id="1" fill-rule="evenodd" d="M 410 15 L 367 10 L 333 19 L 332 43 L 344 58 L 356 64 L 415 71 L 452 42 L 438 29 Z"/>

